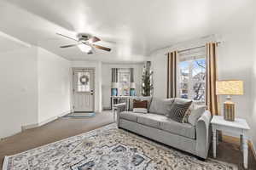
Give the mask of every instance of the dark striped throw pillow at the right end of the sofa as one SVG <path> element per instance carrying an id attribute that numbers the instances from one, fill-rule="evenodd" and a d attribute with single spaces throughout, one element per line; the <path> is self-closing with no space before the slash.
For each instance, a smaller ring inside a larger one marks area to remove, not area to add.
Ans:
<path id="1" fill-rule="evenodd" d="M 174 121 L 183 122 L 183 116 L 185 116 L 191 104 L 192 101 L 183 104 L 177 104 L 174 102 L 171 107 L 171 111 L 168 114 L 168 117 L 170 117 Z"/>

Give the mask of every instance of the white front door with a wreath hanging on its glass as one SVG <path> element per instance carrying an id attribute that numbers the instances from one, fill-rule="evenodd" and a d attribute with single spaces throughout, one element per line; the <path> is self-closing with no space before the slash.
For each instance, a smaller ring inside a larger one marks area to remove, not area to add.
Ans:
<path id="1" fill-rule="evenodd" d="M 94 111 L 94 69 L 73 69 L 73 110 Z"/>

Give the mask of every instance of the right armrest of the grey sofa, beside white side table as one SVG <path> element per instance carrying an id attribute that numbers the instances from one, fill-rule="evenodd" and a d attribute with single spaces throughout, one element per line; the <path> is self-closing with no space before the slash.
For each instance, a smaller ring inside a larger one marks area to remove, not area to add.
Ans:
<path id="1" fill-rule="evenodd" d="M 204 159 L 208 156 L 208 150 L 212 139 L 212 130 L 210 128 L 211 120 L 211 112 L 205 111 L 196 122 L 196 155 Z"/>

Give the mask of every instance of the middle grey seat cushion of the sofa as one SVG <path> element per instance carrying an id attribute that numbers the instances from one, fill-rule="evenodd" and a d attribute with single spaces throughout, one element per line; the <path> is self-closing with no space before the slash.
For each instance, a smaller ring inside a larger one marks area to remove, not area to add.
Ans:
<path id="1" fill-rule="evenodd" d="M 166 120 L 166 116 L 157 115 L 154 113 L 144 114 L 137 117 L 137 122 L 148 127 L 154 127 L 160 129 L 160 123 Z"/>

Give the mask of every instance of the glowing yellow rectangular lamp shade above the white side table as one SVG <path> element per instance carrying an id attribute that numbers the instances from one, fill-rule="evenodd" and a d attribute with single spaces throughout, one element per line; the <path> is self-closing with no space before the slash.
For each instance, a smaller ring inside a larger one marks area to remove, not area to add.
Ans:
<path id="1" fill-rule="evenodd" d="M 216 82 L 217 95 L 242 95 L 243 82 L 240 80 L 224 80 Z"/>

